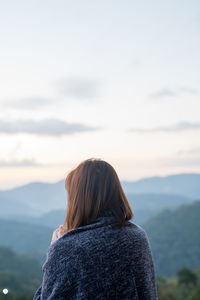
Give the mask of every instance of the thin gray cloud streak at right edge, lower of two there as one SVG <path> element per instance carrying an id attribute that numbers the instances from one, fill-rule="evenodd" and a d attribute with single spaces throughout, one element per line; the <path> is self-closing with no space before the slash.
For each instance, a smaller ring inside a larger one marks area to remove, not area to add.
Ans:
<path id="1" fill-rule="evenodd" d="M 154 128 L 130 128 L 128 131 L 136 133 L 157 133 L 157 132 L 181 132 L 185 130 L 198 130 L 200 129 L 200 123 L 180 122 L 172 126 L 161 126 Z"/>

